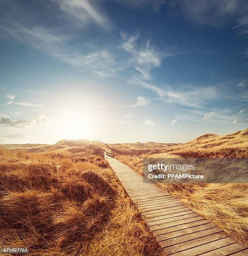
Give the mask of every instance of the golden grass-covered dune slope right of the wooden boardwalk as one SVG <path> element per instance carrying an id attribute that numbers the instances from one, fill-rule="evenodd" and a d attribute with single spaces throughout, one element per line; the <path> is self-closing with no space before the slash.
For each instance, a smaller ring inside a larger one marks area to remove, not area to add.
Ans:
<path id="1" fill-rule="evenodd" d="M 143 158 L 248 158 L 248 129 L 224 136 L 205 134 L 162 154 L 118 155 L 143 174 Z M 186 205 L 248 245 L 248 184 L 159 184 Z"/>

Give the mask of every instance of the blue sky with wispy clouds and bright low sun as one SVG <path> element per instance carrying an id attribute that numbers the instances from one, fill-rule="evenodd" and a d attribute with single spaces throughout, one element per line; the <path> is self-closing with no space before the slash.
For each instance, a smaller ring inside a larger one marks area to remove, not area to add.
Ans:
<path id="1" fill-rule="evenodd" d="M 187 142 L 248 127 L 246 0 L 1 0 L 0 143 Z"/>

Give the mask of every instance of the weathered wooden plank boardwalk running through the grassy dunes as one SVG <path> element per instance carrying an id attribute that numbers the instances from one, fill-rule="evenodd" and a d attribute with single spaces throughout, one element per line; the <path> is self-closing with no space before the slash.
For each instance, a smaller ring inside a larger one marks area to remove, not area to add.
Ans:
<path id="1" fill-rule="evenodd" d="M 167 256 L 248 255 L 243 243 L 109 155 L 105 159 Z"/>

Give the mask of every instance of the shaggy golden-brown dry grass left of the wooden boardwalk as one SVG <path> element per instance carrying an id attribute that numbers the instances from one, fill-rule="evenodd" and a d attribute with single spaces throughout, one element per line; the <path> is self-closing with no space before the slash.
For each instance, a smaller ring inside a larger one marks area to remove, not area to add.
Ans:
<path id="1" fill-rule="evenodd" d="M 0 247 L 42 256 L 163 255 L 100 157 L 0 148 L 0 162 Z"/>

